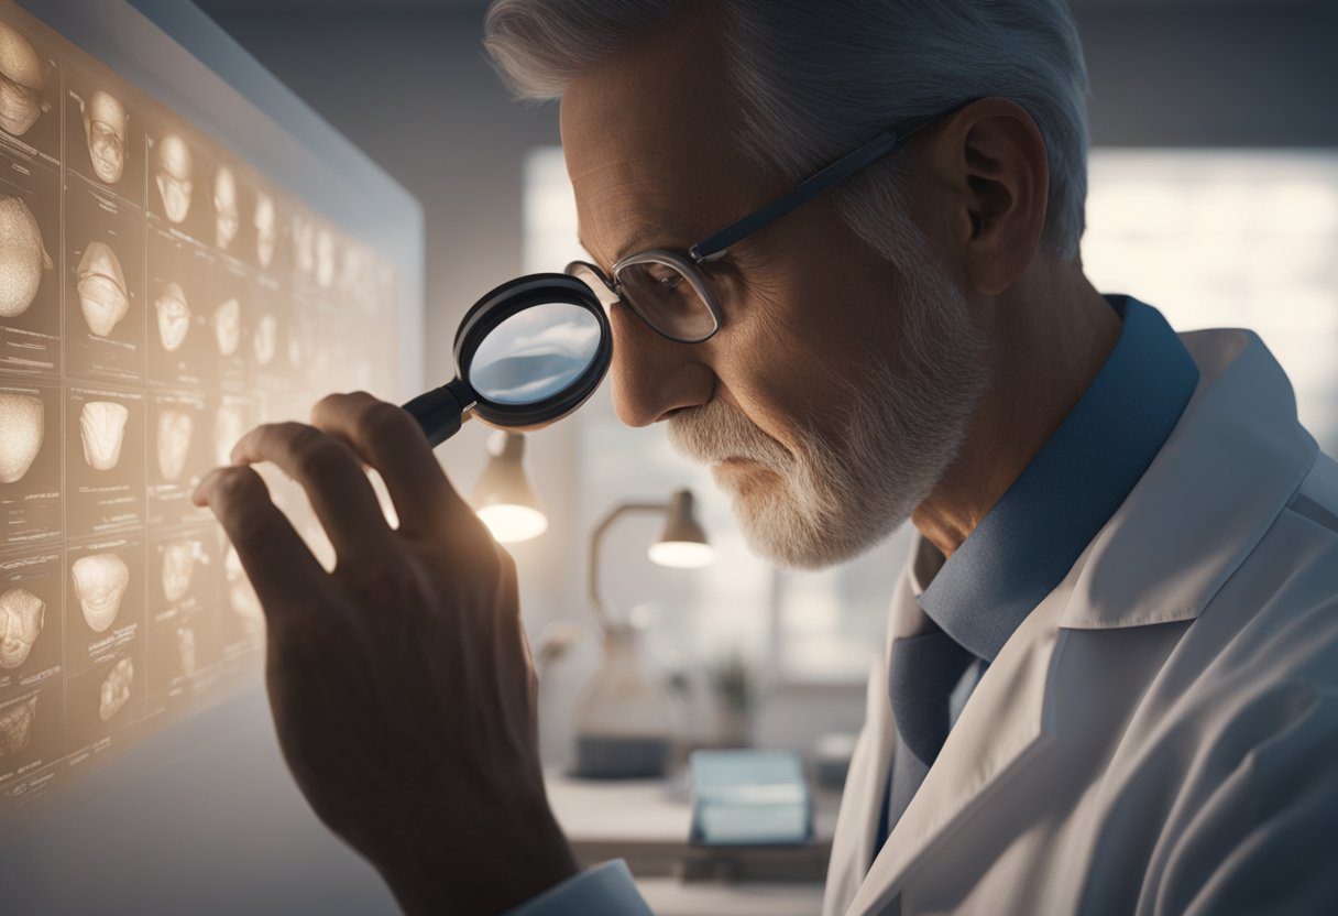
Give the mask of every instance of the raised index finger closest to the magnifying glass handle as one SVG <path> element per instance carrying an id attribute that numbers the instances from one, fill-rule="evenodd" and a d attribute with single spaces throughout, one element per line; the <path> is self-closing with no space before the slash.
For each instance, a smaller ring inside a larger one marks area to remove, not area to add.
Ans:
<path id="1" fill-rule="evenodd" d="M 343 439 L 381 474 L 401 532 L 440 530 L 462 514 L 472 518 L 436 463 L 423 430 L 399 407 L 361 391 L 330 395 L 312 408 L 312 423 Z"/>

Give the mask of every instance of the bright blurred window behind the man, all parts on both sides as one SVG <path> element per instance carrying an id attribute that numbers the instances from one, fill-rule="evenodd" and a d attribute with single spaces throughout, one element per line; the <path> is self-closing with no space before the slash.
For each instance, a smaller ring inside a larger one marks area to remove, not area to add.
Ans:
<path id="1" fill-rule="evenodd" d="M 530 157 L 524 200 L 527 269 L 583 257 L 558 147 Z M 1290 374 L 1303 422 L 1338 449 L 1338 154 L 1093 150 L 1088 226 L 1084 265 L 1098 289 L 1137 296 L 1180 331 L 1255 329 Z M 670 575 L 645 560 L 654 521 L 610 545 L 605 589 L 656 623 L 661 658 L 739 650 L 785 682 L 864 678 L 883 650 L 909 529 L 834 569 L 776 572 L 747 552 L 709 473 L 678 458 L 662 430 L 618 423 L 607 386 L 575 422 L 586 530 L 614 502 L 688 485 L 720 550 L 706 570 Z"/>

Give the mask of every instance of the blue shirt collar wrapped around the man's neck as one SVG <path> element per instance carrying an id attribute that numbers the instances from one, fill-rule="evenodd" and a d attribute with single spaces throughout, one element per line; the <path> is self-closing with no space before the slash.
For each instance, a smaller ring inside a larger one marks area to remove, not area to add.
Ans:
<path id="1" fill-rule="evenodd" d="M 1107 301 L 1124 325 L 1101 371 L 919 596 L 935 624 L 986 662 L 1120 508 L 1199 383 L 1160 312 L 1131 296 Z"/>

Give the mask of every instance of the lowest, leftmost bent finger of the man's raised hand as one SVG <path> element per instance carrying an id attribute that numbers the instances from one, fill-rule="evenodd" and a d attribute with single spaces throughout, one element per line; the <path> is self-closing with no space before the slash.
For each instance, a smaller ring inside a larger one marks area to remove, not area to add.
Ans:
<path id="1" fill-rule="evenodd" d="M 324 588 L 325 570 L 270 501 L 260 474 L 250 467 L 219 467 L 201 481 L 191 500 L 218 517 L 266 617 L 290 616 L 310 605 Z"/>

